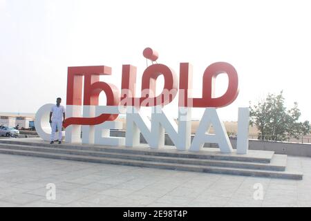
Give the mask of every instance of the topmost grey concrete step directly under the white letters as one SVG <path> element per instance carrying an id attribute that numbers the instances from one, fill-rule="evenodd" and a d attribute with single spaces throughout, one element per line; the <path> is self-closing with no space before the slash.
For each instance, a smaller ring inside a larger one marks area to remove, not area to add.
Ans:
<path id="1" fill-rule="evenodd" d="M 247 155 L 239 155 L 234 150 L 234 153 L 220 153 L 218 148 L 204 148 L 199 152 L 191 151 L 177 151 L 172 146 L 165 146 L 158 150 L 149 148 L 146 144 L 128 148 L 124 146 L 96 146 L 89 144 L 49 144 L 43 142 L 40 138 L 28 138 L 28 139 L 5 139 L 0 140 L 0 144 L 18 144 L 26 146 L 38 146 L 38 147 L 59 147 L 59 148 L 71 148 L 74 150 L 84 151 L 104 151 L 105 153 L 126 153 L 126 154 L 138 154 L 138 155 L 153 155 L 162 157 L 178 157 L 178 158 L 191 158 L 191 159 L 205 159 L 205 160 L 229 160 L 239 162 L 261 162 L 270 163 L 274 156 L 273 151 L 249 151 Z"/>

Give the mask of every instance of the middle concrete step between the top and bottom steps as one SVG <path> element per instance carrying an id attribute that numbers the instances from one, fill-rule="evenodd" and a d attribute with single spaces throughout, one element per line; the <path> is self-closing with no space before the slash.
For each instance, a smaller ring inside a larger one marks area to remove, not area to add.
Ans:
<path id="1" fill-rule="evenodd" d="M 257 170 L 271 170 L 271 171 L 285 171 L 287 156 L 274 155 L 270 164 L 258 162 L 238 162 L 229 160 L 207 160 L 207 159 L 193 159 L 185 157 L 162 157 L 154 155 L 139 155 L 134 153 L 111 153 L 104 151 L 85 151 L 79 149 L 66 148 L 66 146 L 53 146 L 53 147 L 38 147 L 26 146 L 19 144 L 0 144 L 0 149 L 10 149 L 19 151 L 34 151 L 44 153 L 60 153 L 68 155 L 84 155 L 94 157 L 111 157 L 125 160 L 140 160 L 150 162 L 163 162 L 163 163 L 177 163 L 177 164 L 191 164 L 201 166 L 223 166 L 244 169 L 257 169 Z"/>

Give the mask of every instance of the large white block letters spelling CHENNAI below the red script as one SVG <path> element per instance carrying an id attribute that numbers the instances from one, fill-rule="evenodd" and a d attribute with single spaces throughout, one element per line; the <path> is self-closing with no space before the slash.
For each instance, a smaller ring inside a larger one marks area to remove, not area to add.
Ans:
<path id="1" fill-rule="evenodd" d="M 35 127 L 38 135 L 46 141 L 50 140 L 50 124 L 48 116 L 54 104 L 42 106 L 36 115 Z M 79 144 L 97 144 L 109 146 L 140 146 L 140 133 L 153 149 L 164 146 L 164 135 L 179 151 L 200 151 L 205 143 L 218 144 L 221 153 L 232 153 L 223 122 L 220 121 L 216 108 L 206 108 L 202 116 L 194 140 L 191 143 L 191 108 L 179 108 L 178 123 L 167 117 L 160 106 L 152 108 L 151 119 L 133 106 L 66 106 L 67 117 L 95 117 L 102 113 L 126 114 L 126 133 L 124 137 L 112 137 L 111 129 L 122 129 L 122 122 L 104 122 L 96 126 L 70 125 L 66 128 L 66 142 Z M 214 134 L 209 133 L 213 126 Z M 246 154 L 248 150 L 249 108 L 238 109 L 238 154 Z M 82 132 L 82 137 L 81 137 Z"/>

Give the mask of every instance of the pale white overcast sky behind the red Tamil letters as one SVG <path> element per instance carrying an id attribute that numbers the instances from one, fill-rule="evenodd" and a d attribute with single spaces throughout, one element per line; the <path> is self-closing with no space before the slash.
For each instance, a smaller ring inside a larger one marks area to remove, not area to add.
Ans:
<path id="1" fill-rule="evenodd" d="M 224 120 L 280 90 L 286 105 L 299 102 L 301 120 L 311 120 L 310 11 L 311 1 L 284 0 L 0 0 L 0 112 L 35 113 L 56 97 L 65 102 L 68 66 L 111 66 L 113 75 L 102 80 L 120 87 L 122 64 L 132 64 L 140 79 L 142 50 L 151 47 L 177 74 L 180 62 L 194 65 L 196 97 L 207 66 L 232 64 L 241 92 L 219 109 Z M 218 95 L 225 84 L 220 76 Z M 176 102 L 169 110 L 176 115 Z"/>

